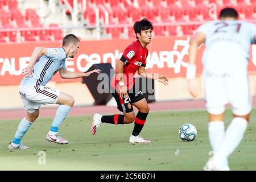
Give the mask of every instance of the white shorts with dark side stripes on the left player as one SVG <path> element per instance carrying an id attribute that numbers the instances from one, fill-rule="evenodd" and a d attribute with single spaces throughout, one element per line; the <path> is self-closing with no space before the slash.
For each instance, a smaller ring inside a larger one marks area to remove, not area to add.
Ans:
<path id="1" fill-rule="evenodd" d="M 60 91 L 46 86 L 20 85 L 19 94 L 23 108 L 28 113 L 34 113 L 41 104 L 56 104 Z"/>

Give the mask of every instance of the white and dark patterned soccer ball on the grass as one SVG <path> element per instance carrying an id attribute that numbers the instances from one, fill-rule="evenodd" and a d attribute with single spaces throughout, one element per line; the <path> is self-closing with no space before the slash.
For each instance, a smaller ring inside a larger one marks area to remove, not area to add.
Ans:
<path id="1" fill-rule="evenodd" d="M 181 140 L 191 142 L 195 140 L 196 134 L 196 127 L 190 123 L 185 123 L 184 125 L 180 126 L 179 137 Z"/>

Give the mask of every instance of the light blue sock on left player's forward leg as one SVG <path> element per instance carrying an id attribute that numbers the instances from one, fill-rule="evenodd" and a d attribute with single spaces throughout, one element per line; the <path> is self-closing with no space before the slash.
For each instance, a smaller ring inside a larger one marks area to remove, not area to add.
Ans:
<path id="1" fill-rule="evenodd" d="M 71 106 L 60 105 L 56 111 L 55 118 L 53 119 L 51 129 L 49 130 L 49 135 L 58 132 L 61 123 L 67 117 L 69 111 L 72 109 Z"/>

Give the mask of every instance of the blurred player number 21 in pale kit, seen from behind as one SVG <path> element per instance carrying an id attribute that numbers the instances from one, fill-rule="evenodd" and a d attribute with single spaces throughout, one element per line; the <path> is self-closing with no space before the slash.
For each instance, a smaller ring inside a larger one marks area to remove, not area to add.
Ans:
<path id="1" fill-rule="evenodd" d="M 228 156 L 237 148 L 246 131 L 252 107 L 247 76 L 250 46 L 256 41 L 255 24 L 238 19 L 232 8 L 221 10 L 220 20 L 200 26 L 189 47 L 188 90 L 199 95 L 196 85 L 197 49 L 205 44 L 203 77 L 205 106 L 209 113 L 208 133 L 213 157 L 204 170 L 229 170 Z M 225 131 L 225 105 L 232 106 L 233 119 Z"/>

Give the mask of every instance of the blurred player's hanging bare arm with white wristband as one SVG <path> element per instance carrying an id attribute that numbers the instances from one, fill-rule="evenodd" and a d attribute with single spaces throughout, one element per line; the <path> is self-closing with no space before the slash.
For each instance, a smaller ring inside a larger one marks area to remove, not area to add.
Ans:
<path id="1" fill-rule="evenodd" d="M 196 82 L 196 58 L 197 50 L 201 44 L 205 41 L 205 35 L 201 32 L 197 32 L 191 39 L 189 50 L 188 50 L 188 67 L 187 67 L 187 79 L 188 79 L 188 92 L 192 97 L 196 98 L 199 96 L 199 86 Z"/>

